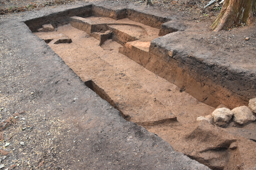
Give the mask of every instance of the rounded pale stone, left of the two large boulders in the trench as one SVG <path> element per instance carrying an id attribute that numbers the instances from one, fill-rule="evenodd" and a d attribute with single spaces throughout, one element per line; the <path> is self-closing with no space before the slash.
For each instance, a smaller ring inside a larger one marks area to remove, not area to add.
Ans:
<path id="1" fill-rule="evenodd" d="M 231 120 L 233 113 L 228 108 L 218 108 L 212 112 L 212 117 L 214 118 L 214 124 L 220 127 L 227 127 L 229 121 Z"/>

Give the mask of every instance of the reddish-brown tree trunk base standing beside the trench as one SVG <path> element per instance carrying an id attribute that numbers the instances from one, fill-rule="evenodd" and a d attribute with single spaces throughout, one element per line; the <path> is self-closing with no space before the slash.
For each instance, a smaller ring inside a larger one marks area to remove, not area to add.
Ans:
<path id="1" fill-rule="evenodd" d="M 256 0 L 225 0 L 211 28 L 219 31 L 230 28 L 234 24 L 251 24 L 255 11 Z"/>

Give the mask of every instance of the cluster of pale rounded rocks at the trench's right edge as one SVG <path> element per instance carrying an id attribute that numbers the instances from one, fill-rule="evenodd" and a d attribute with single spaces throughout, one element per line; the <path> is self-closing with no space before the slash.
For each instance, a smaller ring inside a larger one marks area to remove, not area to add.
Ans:
<path id="1" fill-rule="evenodd" d="M 217 108 L 210 115 L 198 117 L 197 121 L 206 120 L 219 127 L 228 127 L 231 122 L 247 125 L 256 120 L 256 98 L 250 99 L 248 106 L 240 106 L 232 110 L 225 107 Z"/>

